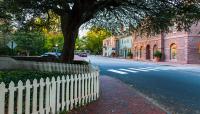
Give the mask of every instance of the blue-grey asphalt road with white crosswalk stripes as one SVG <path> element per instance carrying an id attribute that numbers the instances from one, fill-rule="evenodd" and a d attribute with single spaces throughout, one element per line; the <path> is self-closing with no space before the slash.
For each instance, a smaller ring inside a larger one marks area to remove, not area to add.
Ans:
<path id="1" fill-rule="evenodd" d="M 176 114 L 200 114 L 200 67 L 89 56 L 101 75 L 118 78 Z"/>

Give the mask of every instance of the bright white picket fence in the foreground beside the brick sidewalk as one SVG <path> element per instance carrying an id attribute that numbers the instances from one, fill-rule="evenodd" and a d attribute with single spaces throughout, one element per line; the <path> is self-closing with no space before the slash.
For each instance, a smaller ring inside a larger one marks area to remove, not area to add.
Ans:
<path id="1" fill-rule="evenodd" d="M 0 84 L 0 114 L 59 114 L 99 98 L 99 72 Z"/>

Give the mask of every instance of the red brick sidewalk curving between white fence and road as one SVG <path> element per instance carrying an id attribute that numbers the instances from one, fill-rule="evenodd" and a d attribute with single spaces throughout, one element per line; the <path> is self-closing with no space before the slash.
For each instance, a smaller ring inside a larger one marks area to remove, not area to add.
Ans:
<path id="1" fill-rule="evenodd" d="M 101 76 L 98 101 L 69 114 L 166 114 L 123 82 Z"/>

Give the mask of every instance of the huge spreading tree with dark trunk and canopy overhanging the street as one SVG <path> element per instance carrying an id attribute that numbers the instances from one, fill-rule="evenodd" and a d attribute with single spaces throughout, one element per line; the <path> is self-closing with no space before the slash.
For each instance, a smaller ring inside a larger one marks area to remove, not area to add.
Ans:
<path id="1" fill-rule="evenodd" d="M 19 26 L 35 17 L 48 21 L 50 11 L 57 14 L 65 62 L 73 59 L 81 25 L 101 26 L 113 33 L 119 33 L 122 25 L 142 33 L 168 31 L 175 23 L 187 30 L 199 20 L 199 8 L 199 0 L 4 0 L 0 6 L 1 15 L 12 14 Z"/>

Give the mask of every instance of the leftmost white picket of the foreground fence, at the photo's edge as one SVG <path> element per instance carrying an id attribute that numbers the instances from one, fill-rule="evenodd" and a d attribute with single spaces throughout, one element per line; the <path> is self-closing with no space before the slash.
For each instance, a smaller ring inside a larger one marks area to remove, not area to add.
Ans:
<path id="1" fill-rule="evenodd" d="M 5 93 L 7 92 L 5 84 L 0 84 L 0 114 L 5 114 Z"/>

